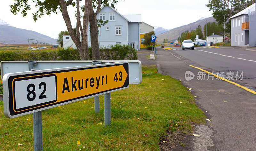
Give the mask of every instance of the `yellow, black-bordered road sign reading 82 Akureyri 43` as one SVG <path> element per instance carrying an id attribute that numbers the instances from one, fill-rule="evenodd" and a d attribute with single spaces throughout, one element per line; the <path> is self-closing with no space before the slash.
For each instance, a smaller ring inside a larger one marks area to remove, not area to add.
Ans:
<path id="1" fill-rule="evenodd" d="M 5 74 L 4 115 L 13 118 L 128 87 L 128 62 Z"/>

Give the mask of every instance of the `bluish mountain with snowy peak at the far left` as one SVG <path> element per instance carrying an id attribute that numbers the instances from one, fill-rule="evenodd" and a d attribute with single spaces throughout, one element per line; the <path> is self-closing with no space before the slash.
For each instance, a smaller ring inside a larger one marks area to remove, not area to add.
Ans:
<path id="1" fill-rule="evenodd" d="M 45 36 L 38 32 L 20 29 L 11 26 L 0 19 L 0 43 L 3 44 L 28 44 L 29 39 L 37 39 L 38 42 L 56 44 L 56 39 Z"/>

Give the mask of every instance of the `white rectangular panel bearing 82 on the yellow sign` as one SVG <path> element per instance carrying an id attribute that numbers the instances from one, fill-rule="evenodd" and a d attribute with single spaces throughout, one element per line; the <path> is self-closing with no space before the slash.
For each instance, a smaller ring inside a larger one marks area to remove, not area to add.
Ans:
<path id="1" fill-rule="evenodd" d="M 29 78 L 29 77 L 26 77 Z M 33 79 L 17 78 L 14 80 L 14 106 L 16 109 L 55 102 L 57 100 L 56 76 L 49 75 Z M 19 92 L 19 93 L 15 93 Z"/>

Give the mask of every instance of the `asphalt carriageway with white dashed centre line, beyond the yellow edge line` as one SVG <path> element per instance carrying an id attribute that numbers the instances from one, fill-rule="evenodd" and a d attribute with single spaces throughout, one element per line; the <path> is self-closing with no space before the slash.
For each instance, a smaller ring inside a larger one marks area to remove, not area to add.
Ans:
<path id="1" fill-rule="evenodd" d="M 238 71 L 239 76 L 243 74 L 243 80 L 233 80 L 252 90 L 256 88 L 256 51 L 247 51 L 244 49 L 228 49 L 228 48 L 211 48 L 196 47 L 195 50 L 181 50 L 173 48 L 178 57 L 185 60 L 192 60 L 200 66 L 206 67 L 211 71 L 235 73 Z"/>

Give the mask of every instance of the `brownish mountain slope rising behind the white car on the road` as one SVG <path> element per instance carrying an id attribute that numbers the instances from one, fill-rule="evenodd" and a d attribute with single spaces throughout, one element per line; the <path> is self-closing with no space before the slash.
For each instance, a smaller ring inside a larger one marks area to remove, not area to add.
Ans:
<path id="1" fill-rule="evenodd" d="M 213 17 L 209 17 L 206 18 L 207 22 L 214 22 L 216 21 Z M 196 22 L 190 23 L 188 25 L 183 25 L 177 28 L 173 28 L 171 30 L 168 30 L 162 34 L 157 35 L 157 42 L 158 43 L 162 43 L 164 41 L 164 39 L 168 38 L 168 41 L 173 41 L 178 39 L 178 37 L 180 36 L 180 34 L 184 31 L 190 31 L 190 27 L 191 26 L 191 30 L 196 29 L 198 25 L 201 25 L 202 27 L 202 31 L 204 34 L 204 25 L 206 24 L 206 20 L 205 19 L 200 19 L 197 20 Z"/>

